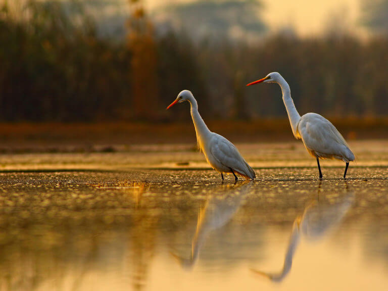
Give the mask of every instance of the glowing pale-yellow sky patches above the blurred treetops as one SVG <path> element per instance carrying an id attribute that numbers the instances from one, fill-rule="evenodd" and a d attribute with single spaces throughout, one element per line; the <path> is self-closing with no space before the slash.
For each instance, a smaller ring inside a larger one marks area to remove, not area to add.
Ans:
<path id="1" fill-rule="evenodd" d="M 4 2 L 5 0 L 0 0 Z M 26 0 L 17 0 L 23 2 Z M 40 0 L 47 1 L 47 0 Z M 69 1 L 69 0 L 60 0 Z M 100 14 L 97 18 L 104 22 L 103 27 L 111 25 L 122 26 L 128 16 L 129 0 L 82 0 L 92 4 L 94 12 Z M 82 2 L 81 1 L 81 2 Z M 143 0 L 146 7 L 158 18 L 158 11 L 162 12 L 170 4 L 192 3 L 199 0 Z M 222 0 L 220 0 L 222 1 Z M 224 0 L 227 1 L 227 0 Z M 236 0 L 233 0 L 236 1 Z M 255 1 L 255 0 L 240 0 Z M 263 4 L 260 16 L 269 32 L 292 27 L 300 36 L 314 36 L 327 30 L 348 30 L 354 34 L 367 36 L 367 29 L 360 25 L 361 2 L 366 0 L 258 0 Z M 99 4 L 100 3 L 100 4 Z M 103 3 L 104 5 L 101 5 Z M 109 23 L 109 24 L 107 24 Z"/>

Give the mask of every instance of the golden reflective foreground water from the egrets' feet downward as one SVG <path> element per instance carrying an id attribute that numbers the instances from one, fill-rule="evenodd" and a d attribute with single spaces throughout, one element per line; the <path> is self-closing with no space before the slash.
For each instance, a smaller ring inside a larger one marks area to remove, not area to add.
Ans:
<path id="1" fill-rule="evenodd" d="M 385 290 L 386 170 L 3 172 L 0 289 Z"/>

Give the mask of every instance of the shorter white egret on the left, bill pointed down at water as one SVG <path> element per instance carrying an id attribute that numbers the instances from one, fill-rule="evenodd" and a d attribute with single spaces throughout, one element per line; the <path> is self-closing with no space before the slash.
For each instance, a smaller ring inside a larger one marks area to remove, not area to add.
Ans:
<path id="1" fill-rule="evenodd" d="M 207 162 L 212 168 L 221 173 L 222 180 L 224 180 L 223 173 L 232 173 L 236 181 L 238 180 L 236 174 L 253 180 L 256 177 L 255 171 L 244 160 L 234 144 L 225 137 L 211 132 L 206 126 L 198 112 L 197 100 L 190 91 L 181 91 L 167 109 L 184 101 L 190 103 L 190 113 L 196 129 L 198 148 L 204 153 Z"/>

